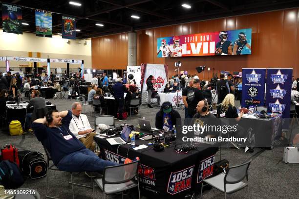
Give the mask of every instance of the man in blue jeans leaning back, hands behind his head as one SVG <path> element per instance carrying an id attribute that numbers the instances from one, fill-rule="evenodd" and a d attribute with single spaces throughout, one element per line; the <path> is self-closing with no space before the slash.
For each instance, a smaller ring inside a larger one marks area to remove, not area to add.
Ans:
<path id="1" fill-rule="evenodd" d="M 36 119 L 32 129 L 39 141 L 49 151 L 54 164 L 62 171 L 92 171 L 102 173 L 107 166 L 117 163 L 100 159 L 86 149 L 69 130 L 71 111 L 51 110 L 43 119 Z"/>

